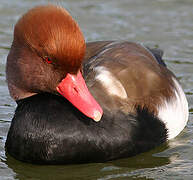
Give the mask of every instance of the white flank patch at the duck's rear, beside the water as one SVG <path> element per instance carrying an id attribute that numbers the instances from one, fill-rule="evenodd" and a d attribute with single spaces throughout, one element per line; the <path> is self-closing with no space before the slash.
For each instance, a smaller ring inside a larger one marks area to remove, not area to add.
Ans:
<path id="1" fill-rule="evenodd" d="M 173 81 L 176 86 L 175 97 L 169 102 L 164 102 L 158 113 L 158 117 L 168 129 L 168 139 L 175 138 L 184 129 L 189 114 L 186 96 L 177 80 L 173 78 Z"/>

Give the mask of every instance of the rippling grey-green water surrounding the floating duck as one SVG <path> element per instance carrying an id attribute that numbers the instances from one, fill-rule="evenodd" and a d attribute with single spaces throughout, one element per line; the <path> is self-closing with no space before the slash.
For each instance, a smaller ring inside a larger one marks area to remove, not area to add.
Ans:
<path id="1" fill-rule="evenodd" d="M 48 2 L 51 1 L 0 2 L 0 180 L 193 179 L 192 0 L 54 1 L 70 11 L 87 41 L 140 41 L 150 46 L 159 45 L 165 51 L 164 59 L 180 79 L 189 102 L 189 122 L 177 138 L 150 152 L 107 163 L 37 166 L 5 155 L 4 144 L 15 109 L 4 72 L 13 27 L 27 9 Z"/>

